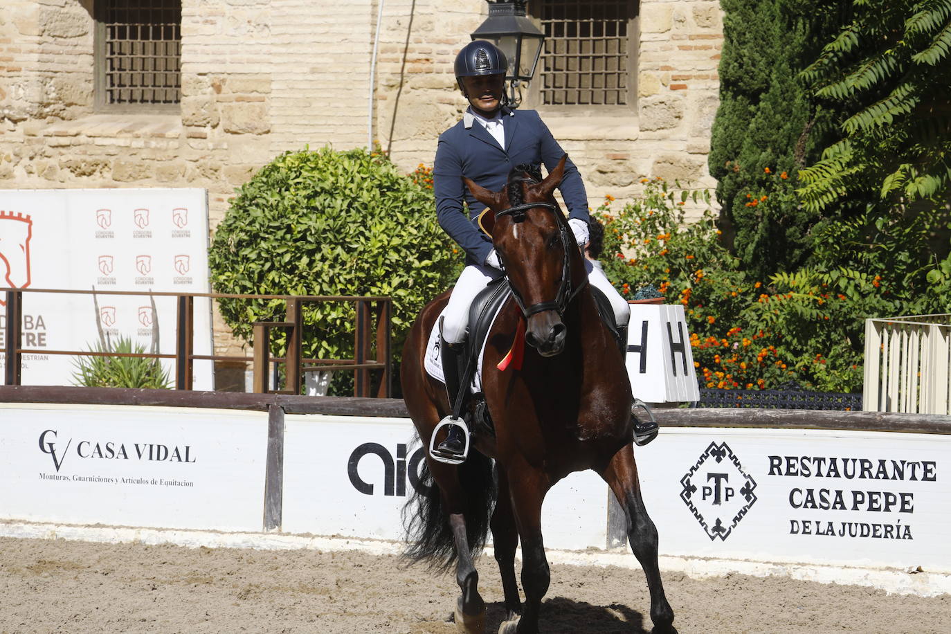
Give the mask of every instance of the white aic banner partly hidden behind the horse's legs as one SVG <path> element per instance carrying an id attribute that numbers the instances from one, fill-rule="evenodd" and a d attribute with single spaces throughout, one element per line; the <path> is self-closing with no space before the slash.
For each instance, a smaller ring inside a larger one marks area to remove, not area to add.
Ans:
<path id="1" fill-rule="evenodd" d="M 285 532 L 400 540 L 401 510 L 418 485 L 423 450 L 405 418 L 287 415 L 284 431 Z M 549 548 L 604 548 L 608 490 L 575 473 L 545 499 Z"/>

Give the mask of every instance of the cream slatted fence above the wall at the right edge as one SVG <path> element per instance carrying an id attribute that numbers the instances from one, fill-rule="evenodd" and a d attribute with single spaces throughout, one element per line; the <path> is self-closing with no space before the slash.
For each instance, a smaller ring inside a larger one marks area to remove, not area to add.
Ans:
<path id="1" fill-rule="evenodd" d="M 865 319 L 866 412 L 951 413 L 951 315 Z"/>

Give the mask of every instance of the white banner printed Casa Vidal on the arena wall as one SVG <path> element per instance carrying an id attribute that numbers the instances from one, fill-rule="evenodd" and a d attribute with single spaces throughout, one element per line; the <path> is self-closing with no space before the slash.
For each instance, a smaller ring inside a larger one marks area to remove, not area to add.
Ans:
<path id="1" fill-rule="evenodd" d="M 0 404 L 4 519 L 262 530 L 267 414 Z"/>

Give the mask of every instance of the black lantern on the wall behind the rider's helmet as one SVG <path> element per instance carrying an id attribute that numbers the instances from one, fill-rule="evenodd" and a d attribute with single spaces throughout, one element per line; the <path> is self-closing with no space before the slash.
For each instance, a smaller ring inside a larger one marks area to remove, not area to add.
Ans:
<path id="1" fill-rule="evenodd" d="M 511 82 L 509 104 L 518 106 L 521 102 L 515 91 L 522 82 L 528 84 L 534 76 L 541 43 L 545 34 L 534 26 L 525 15 L 528 0 L 486 0 L 489 3 L 489 17 L 472 33 L 474 40 L 488 40 L 500 48 L 509 60 L 509 71 L 505 79 Z"/>

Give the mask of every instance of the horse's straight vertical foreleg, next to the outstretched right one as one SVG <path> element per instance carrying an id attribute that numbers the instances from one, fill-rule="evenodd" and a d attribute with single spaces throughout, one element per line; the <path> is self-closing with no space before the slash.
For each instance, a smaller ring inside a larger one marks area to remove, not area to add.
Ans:
<path id="1" fill-rule="evenodd" d="M 508 472 L 515 526 L 522 542 L 522 588 L 525 608 L 515 629 L 502 624 L 499 634 L 536 634 L 541 600 L 548 592 L 551 572 L 541 537 L 541 505 L 548 491 L 548 479 L 541 471 L 525 467 Z"/>

